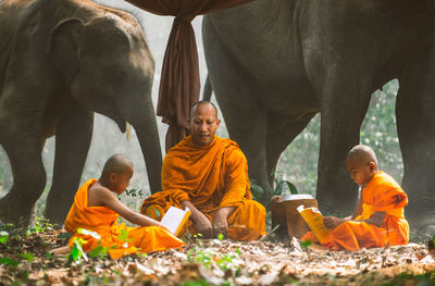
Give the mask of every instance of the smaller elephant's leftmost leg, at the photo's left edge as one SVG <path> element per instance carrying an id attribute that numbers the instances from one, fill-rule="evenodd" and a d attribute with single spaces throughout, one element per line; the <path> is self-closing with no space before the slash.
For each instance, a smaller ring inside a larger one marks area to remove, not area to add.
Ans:
<path id="1" fill-rule="evenodd" d="M 41 139 L 29 136 L 24 128 L 5 132 L 3 148 L 8 153 L 13 184 L 0 199 L 0 216 L 3 222 L 26 227 L 35 214 L 35 202 L 46 186 L 46 171 L 41 158 Z M 13 138 L 13 141 L 10 139 Z"/>

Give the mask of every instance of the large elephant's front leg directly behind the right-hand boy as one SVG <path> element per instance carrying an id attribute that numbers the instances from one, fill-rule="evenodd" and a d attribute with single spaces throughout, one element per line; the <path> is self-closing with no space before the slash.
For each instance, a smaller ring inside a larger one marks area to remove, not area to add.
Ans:
<path id="1" fill-rule="evenodd" d="M 358 186 L 349 177 L 346 158 L 359 144 L 371 92 L 347 85 L 346 76 L 341 75 L 327 84 L 322 95 L 316 198 L 325 214 L 349 215 L 357 203 Z"/>

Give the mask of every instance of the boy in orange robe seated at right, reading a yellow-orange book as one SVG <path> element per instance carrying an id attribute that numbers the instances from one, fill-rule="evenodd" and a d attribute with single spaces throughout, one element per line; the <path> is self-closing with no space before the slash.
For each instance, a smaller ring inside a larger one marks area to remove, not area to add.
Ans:
<path id="1" fill-rule="evenodd" d="M 409 225 L 403 208 L 408 198 L 399 184 L 377 170 L 376 156 L 368 146 L 353 147 L 346 164 L 350 178 L 361 186 L 361 196 L 352 216 L 324 217 L 325 226 L 333 229 L 324 245 L 334 250 L 406 245 Z M 316 241 L 311 232 L 302 237 L 307 239 Z"/>

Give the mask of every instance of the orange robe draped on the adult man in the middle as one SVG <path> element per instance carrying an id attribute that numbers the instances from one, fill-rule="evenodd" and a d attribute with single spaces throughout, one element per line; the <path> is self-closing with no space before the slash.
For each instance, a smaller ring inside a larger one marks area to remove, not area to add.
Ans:
<path id="1" fill-rule="evenodd" d="M 171 207 L 189 200 L 210 222 L 223 207 L 236 207 L 228 216 L 228 236 L 253 240 L 265 234 L 265 209 L 252 200 L 248 164 L 237 144 L 214 136 L 207 147 L 191 136 L 171 148 L 163 161 L 162 191 L 144 201 L 141 213 L 161 220 Z M 189 232 L 196 233 L 191 221 Z"/>

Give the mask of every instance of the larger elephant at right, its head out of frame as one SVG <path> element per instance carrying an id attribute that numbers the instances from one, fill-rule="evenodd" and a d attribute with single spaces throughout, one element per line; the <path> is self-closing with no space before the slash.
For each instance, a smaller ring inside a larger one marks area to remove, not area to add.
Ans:
<path id="1" fill-rule="evenodd" d="M 320 112 L 316 198 L 322 212 L 349 214 L 347 152 L 372 92 L 398 78 L 406 214 L 435 233 L 434 13 L 434 0 L 256 0 L 204 16 L 210 84 L 264 200 L 281 153 Z"/>

